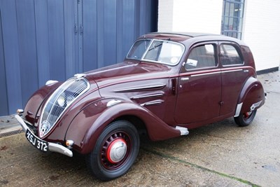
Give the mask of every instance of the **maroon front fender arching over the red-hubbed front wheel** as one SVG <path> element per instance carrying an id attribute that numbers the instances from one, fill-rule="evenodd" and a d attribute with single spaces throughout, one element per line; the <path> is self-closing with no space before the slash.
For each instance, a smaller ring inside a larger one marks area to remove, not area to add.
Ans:
<path id="1" fill-rule="evenodd" d="M 153 141 L 181 135 L 179 130 L 170 127 L 143 106 L 125 101 L 113 106 L 107 106 L 111 100 L 103 99 L 94 102 L 80 111 L 76 118 L 73 119 L 66 133 L 66 139 L 71 139 L 75 142 L 73 148 L 76 151 L 82 154 L 90 153 L 104 128 L 113 120 L 122 116 L 140 118 L 146 125 L 148 136 Z"/>

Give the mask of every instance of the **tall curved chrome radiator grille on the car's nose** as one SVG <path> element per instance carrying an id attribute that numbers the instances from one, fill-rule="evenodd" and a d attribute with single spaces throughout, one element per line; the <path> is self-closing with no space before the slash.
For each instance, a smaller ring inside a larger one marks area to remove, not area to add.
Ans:
<path id="1" fill-rule="evenodd" d="M 41 115 L 39 136 L 44 137 L 57 123 L 62 113 L 90 88 L 85 78 L 70 78 L 53 92 L 46 102 Z"/>

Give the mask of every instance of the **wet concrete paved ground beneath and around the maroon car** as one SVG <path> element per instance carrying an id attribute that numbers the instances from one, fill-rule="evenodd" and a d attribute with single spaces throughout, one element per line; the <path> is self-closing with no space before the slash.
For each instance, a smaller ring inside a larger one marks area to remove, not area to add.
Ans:
<path id="1" fill-rule="evenodd" d="M 229 118 L 186 137 L 142 141 L 130 172 L 106 183 L 90 175 L 81 156 L 45 155 L 23 133 L 3 137 L 18 124 L 2 117 L 0 186 L 279 186 L 280 71 L 258 78 L 267 100 L 253 124 L 237 127 Z"/>

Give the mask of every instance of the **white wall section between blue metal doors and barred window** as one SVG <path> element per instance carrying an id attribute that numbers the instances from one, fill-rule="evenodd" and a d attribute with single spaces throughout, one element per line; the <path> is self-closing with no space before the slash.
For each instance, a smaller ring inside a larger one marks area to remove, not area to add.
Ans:
<path id="1" fill-rule="evenodd" d="M 159 32 L 221 33 L 223 0 L 160 0 Z"/>

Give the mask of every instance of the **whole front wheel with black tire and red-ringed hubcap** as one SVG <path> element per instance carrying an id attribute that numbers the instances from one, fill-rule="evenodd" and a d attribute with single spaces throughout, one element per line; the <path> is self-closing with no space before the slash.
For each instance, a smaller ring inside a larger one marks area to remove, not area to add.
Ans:
<path id="1" fill-rule="evenodd" d="M 87 166 L 97 179 L 116 179 L 132 167 L 139 145 L 139 134 L 132 123 L 126 120 L 113 122 L 100 134 L 92 152 L 87 155 Z"/>

